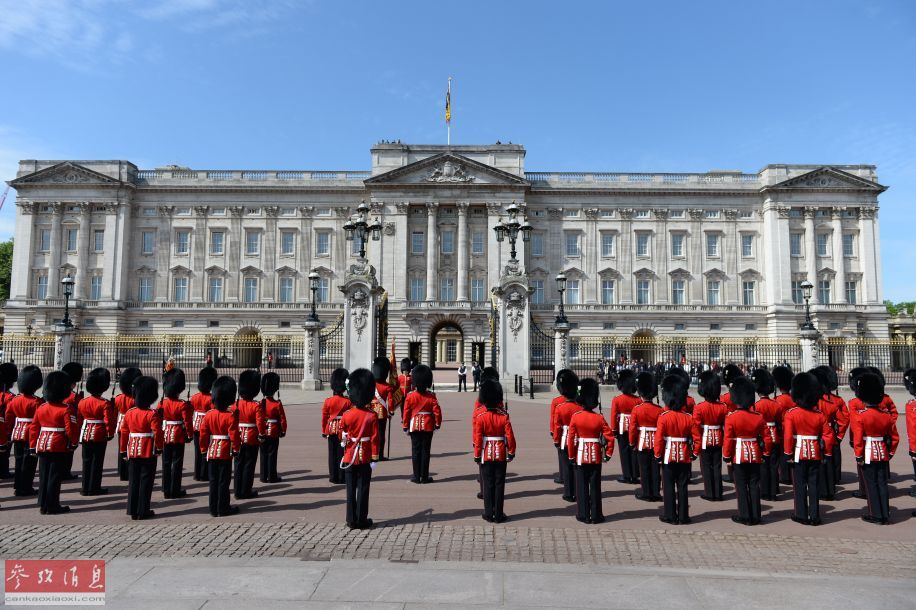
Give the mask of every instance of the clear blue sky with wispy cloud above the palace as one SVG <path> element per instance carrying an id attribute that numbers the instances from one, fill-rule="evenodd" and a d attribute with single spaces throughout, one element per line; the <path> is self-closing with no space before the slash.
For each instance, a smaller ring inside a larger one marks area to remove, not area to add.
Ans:
<path id="1" fill-rule="evenodd" d="M 916 300 L 916 2 L 0 0 L 19 159 L 368 169 L 379 140 L 528 171 L 874 164 L 885 298 Z M 12 234 L 14 193 L 0 210 Z"/>

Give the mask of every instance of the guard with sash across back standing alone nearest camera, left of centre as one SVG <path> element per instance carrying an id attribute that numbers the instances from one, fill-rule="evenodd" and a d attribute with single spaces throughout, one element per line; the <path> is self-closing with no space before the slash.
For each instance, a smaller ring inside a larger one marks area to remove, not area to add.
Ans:
<path id="1" fill-rule="evenodd" d="M 414 383 L 416 381 L 414 378 Z M 373 523 L 369 518 L 369 483 L 380 450 L 379 419 L 371 409 L 375 396 L 372 372 L 367 369 L 353 371 L 348 393 L 353 408 L 348 409 L 340 420 L 343 468 L 347 479 L 347 526 L 350 529 L 370 529 Z"/>

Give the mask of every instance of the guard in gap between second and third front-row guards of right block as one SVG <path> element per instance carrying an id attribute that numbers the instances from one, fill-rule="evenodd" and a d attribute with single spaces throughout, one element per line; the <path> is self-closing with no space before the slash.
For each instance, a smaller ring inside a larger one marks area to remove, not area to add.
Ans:
<path id="1" fill-rule="evenodd" d="M 719 400 L 722 381 L 715 371 L 703 371 L 698 381 L 697 392 L 703 397 L 703 402 L 693 410 L 693 419 L 697 424 L 693 447 L 699 453 L 700 475 L 703 477 L 703 494 L 700 497 L 718 502 L 722 500 L 722 427 L 728 407 Z"/>

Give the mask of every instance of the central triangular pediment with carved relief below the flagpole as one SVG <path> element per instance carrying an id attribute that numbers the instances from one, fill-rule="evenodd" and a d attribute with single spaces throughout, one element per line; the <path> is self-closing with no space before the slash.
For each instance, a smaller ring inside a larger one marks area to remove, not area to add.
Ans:
<path id="1" fill-rule="evenodd" d="M 440 153 L 426 159 L 373 176 L 366 186 L 409 184 L 413 186 L 526 186 L 528 181 L 515 174 L 453 153 Z"/>

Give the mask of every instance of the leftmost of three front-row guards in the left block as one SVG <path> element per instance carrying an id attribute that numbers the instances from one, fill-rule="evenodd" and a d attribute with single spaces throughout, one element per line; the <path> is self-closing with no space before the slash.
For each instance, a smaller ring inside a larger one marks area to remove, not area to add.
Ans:
<path id="1" fill-rule="evenodd" d="M 42 515 L 70 511 L 60 504 L 60 484 L 66 474 L 67 456 L 79 441 L 79 430 L 70 408 L 70 377 L 61 371 L 49 373 L 44 383 L 45 403 L 29 423 L 29 449 L 39 461 L 38 505 Z"/>

